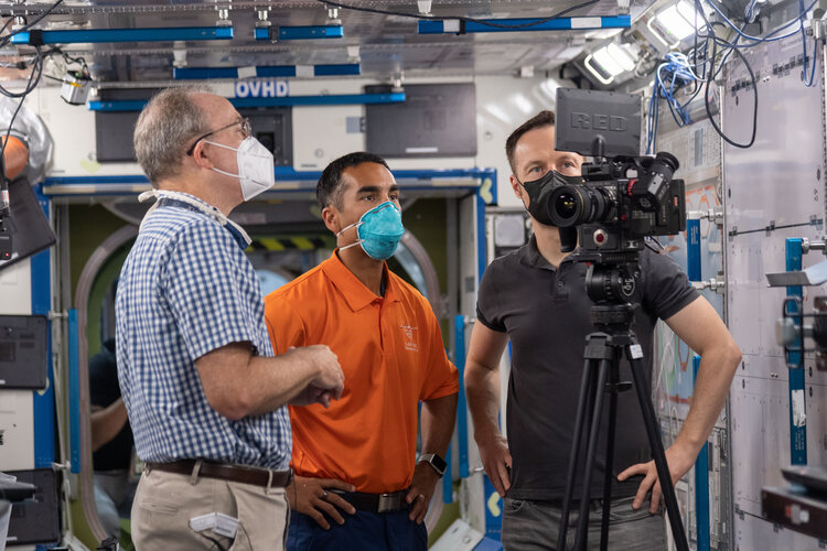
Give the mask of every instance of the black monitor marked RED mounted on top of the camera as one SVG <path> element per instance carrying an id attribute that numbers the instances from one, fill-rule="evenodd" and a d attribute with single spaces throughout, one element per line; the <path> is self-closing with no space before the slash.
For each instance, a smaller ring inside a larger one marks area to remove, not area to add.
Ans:
<path id="1" fill-rule="evenodd" d="M 557 88 L 555 149 L 593 155 L 602 139 L 602 154 L 641 154 L 643 97 L 617 91 Z"/>

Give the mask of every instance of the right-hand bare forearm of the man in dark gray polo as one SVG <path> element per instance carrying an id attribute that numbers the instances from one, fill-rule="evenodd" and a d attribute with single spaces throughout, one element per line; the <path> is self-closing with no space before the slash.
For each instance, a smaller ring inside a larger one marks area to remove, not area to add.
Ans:
<path id="1" fill-rule="evenodd" d="M 701 356 L 689 414 L 675 445 L 684 446 L 694 455 L 704 447 L 727 400 L 739 360 L 740 353 L 727 347 Z"/>

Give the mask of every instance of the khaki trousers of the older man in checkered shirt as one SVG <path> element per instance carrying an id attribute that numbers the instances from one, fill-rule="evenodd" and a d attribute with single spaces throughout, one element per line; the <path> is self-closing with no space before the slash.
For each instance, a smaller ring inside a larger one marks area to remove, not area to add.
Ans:
<path id="1" fill-rule="evenodd" d="M 211 512 L 238 519 L 235 538 L 190 528 L 191 518 Z M 284 488 L 144 471 L 132 504 L 132 541 L 138 551 L 283 550 L 289 515 Z"/>

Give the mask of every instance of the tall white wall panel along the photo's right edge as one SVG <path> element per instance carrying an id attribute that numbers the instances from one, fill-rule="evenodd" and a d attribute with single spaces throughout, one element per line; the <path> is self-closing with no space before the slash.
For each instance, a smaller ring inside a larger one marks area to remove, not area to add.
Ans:
<path id="1" fill-rule="evenodd" d="M 784 486 L 781 468 L 791 462 L 790 375 L 774 331 L 786 289 L 769 288 L 765 274 L 786 271 L 787 238 L 825 235 L 820 61 L 812 88 L 801 82 L 801 66 L 773 71 L 801 53 L 798 41 L 744 51 L 759 83 L 758 134 L 750 149 L 724 148 L 727 301 L 730 331 L 744 354 L 730 390 L 732 490 L 739 511 L 734 537 L 741 550 L 823 549 L 814 538 L 760 518 L 761 488 Z M 737 141 L 747 141 L 752 130 L 754 96 L 748 79 L 743 64 L 732 63 L 721 87 L 724 131 Z M 824 259 L 812 251 L 804 255 L 803 264 Z M 825 292 L 805 288 L 805 311 L 812 311 L 813 298 Z M 825 374 L 813 370 L 813 363 L 807 355 L 807 458 L 825 464 Z"/>

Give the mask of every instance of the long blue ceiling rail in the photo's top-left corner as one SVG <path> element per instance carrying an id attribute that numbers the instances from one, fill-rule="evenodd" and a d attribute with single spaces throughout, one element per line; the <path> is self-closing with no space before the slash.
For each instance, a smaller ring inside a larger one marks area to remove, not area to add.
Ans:
<path id="1" fill-rule="evenodd" d="M 84 29 L 26 31 L 11 37 L 12 44 L 30 44 L 40 34 L 44 44 L 100 42 L 172 42 L 176 40 L 230 40 L 232 26 L 169 26 L 154 29 Z"/>

